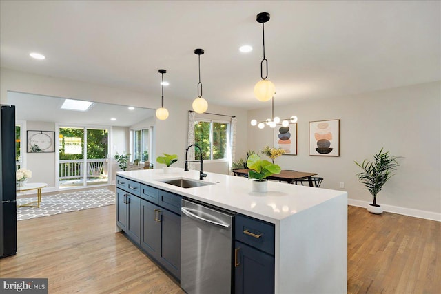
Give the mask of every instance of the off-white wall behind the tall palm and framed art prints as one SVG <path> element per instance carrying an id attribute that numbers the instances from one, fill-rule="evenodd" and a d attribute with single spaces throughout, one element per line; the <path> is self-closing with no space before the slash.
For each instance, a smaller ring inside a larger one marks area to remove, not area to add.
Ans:
<path id="1" fill-rule="evenodd" d="M 441 220 L 441 83 L 424 83 L 391 90 L 305 101 L 278 106 L 274 114 L 298 116 L 298 155 L 281 156 L 282 169 L 317 172 L 323 188 L 340 189 L 345 183 L 349 202 L 371 202 L 358 182 L 354 160 L 372 160 L 382 147 L 404 156 L 401 166 L 377 196 L 385 210 Z M 248 118 L 265 119 L 270 104 L 248 112 Z M 309 156 L 309 121 L 340 119 L 340 156 Z M 272 146 L 273 130 L 248 127 L 248 149 Z"/>

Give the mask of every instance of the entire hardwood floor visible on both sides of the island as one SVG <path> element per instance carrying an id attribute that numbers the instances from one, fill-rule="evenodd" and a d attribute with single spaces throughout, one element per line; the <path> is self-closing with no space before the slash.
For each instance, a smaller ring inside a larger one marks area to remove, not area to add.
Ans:
<path id="1" fill-rule="evenodd" d="M 348 293 L 439 293 L 441 222 L 348 207 L 348 224 Z M 184 293 L 115 233 L 114 205 L 20 221 L 18 242 L 0 277 L 47 277 L 49 293 Z"/>

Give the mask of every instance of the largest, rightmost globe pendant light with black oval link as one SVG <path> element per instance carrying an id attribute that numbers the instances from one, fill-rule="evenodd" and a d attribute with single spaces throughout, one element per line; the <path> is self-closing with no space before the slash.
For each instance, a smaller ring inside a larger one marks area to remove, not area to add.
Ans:
<path id="1" fill-rule="evenodd" d="M 262 23 L 262 36 L 263 36 L 263 59 L 260 61 L 260 78 L 262 81 L 259 81 L 254 86 L 254 96 L 256 96 L 259 101 L 268 101 L 274 96 L 276 92 L 276 86 L 274 83 L 267 80 L 268 77 L 268 61 L 265 58 L 265 28 L 264 24 L 269 21 L 269 13 L 268 12 L 260 12 L 256 16 L 256 21 L 258 23 Z M 263 76 L 263 63 L 265 62 L 265 77 Z"/>

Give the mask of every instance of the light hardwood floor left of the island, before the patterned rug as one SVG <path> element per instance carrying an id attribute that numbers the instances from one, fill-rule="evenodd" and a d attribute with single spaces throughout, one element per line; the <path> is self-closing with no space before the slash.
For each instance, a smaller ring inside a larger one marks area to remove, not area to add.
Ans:
<path id="1" fill-rule="evenodd" d="M 0 277 L 47 277 L 49 293 L 184 293 L 121 233 L 115 205 L 17 222 Z"/>

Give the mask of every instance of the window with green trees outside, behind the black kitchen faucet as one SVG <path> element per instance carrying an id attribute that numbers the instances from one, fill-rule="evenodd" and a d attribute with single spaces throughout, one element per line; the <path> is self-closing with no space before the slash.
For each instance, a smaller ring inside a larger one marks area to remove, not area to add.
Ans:
<path id="1" fill-rule="evenodd" d="M 201 147 L 205 160 L 229 158 L 229 123 L 215 120 L 195 120 L 194 143 Z M 201 158 L 198 149 L 195 149 L 195 156 Z"/>

